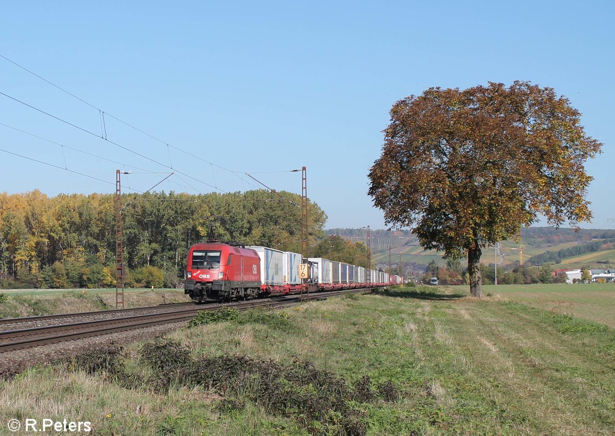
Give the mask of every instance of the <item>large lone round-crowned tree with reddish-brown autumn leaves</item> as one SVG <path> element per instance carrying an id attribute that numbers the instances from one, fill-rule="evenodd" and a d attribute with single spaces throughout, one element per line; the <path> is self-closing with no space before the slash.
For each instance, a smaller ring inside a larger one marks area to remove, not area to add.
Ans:
<path id="1" fill-rule="evenodd" d="M 387 224 L 412 228 L 424 248 L 467 255 L 480 297 L 482 248 L 518 238 L 540 215 L 573 228 L 591 218 L 584 163 L 601 143 L 580 116 L 530 82 L 427 89 L 393 105 L 369 194 Z"/>

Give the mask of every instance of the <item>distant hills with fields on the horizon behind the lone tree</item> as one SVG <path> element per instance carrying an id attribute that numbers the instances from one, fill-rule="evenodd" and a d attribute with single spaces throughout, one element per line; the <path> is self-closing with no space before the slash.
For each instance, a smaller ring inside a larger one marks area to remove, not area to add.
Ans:
<path id="1" fill-rule="evenodd" d="M 361 241 L 367 245 L 367 229 L 329 229 L 352 242 Z M 410 231 L 388 231 L 371 229 L 371 252 L 376 266 L 386 268 L 389 263 L 395 268 L 402 263 L 405 271 L 424 271 L 426 265 L 435 260 L 444 263 L 442 254 L 434 250 L 423 250 L 418 239 Z M 526 266 L 544 263 L 557 264 L 557 268 L 614 268 L 615 230 L 613 229 L 572 229 L 554 227 L 531 227 L 522 229 L 520 244 L 502 241 L 501 247 L 483 249 L 482 263 L 498 262 L 498 268 L 510 269 L 521 262 Z M 462 260 L 465 262 L 466 260 Z M 554 267 L 555 268 L 555 267 Z"/>

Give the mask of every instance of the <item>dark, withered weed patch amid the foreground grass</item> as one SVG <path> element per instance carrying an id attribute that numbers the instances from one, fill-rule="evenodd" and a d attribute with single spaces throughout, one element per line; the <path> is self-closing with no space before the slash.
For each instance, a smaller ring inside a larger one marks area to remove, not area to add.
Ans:
<path id="1" fill-rule="evenodd" d="M 181 344 L 164 339 L 146 343 L 141 349 L 141 362 L 151 370 L 147 387 L 204 387 L 224 397 L 216 406 L 220 413 L 243 410 L 251 402 L 267 413 L 295 419 L 311 434 L 367 434 L 367 414 L 351 404 L 375 398 L 368 376 L 351 389 L 344 378 L 311 362 L 295 358 L 283 365 L 245 355 L 194 357 Z M 386 386 L 391 392 L 399 392 L 390 381 Z M 394 395 L 386 398 L 392 400 Z"/>

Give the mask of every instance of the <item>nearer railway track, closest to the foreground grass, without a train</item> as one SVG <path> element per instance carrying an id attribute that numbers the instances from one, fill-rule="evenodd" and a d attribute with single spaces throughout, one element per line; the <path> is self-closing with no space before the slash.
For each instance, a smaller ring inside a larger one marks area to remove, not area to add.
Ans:
<path id="1" fill-rule="evenodd" d="M 247 310 L 261 306 L 284 306 L 292 303 L 300 303 L 310 299 L 323 299 L 337 296 L 343 293 L 355 293 L 366 289 L 352 289 L 345 291 L 330 291 L 310 293 L 304 295 L 289 295 L 276 299 L 254 300 L 242 303 L 231 303 L 226 307 L 236 307 L 239 310 Z M 22 330 L 7 330 L 0 332 L 0 353 L 15 351 L 18 349 L 36 347 L 47 344 L 60 343 L 74 339 L 92 336 L 107 335 L 117 331 L 135 330 L 137 328 L 151 327 L 165 323 L 182 322 L 191 319 L 200 311 L 215 311 L 220 309 L 221 304 L 210 306 L 194 305 L 191 309 L 156 314 L 131 315 L 127 317 L 98 319 L 84 322 L 73 322 L 62 325 L 25 328 Z M 157 306 L 152 306 L 157 307 Z"/>

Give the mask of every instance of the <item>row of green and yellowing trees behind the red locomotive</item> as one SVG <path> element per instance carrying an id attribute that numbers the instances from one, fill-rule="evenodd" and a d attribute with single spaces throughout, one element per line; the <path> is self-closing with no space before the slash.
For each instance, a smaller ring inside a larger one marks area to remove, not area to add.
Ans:
<path id="1" fill-rule="evenodd" d="M 162 274 L 164 284 L 177 283 L 188 248 L 208 238 L 300 252 L 297 204 L 301 197 L 284 191 L 124 194 L 127 280 L 148 285 L 156 279 L 157 285 Z M 115 219 L 111 194 L 0 194 L 0 279 L 40 287 L 114 283 Z M 317 204 L 308 204 L 312 246 L 324 237 L 326 219 Z"/>

